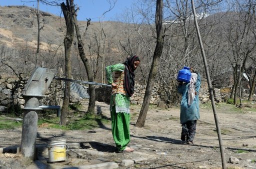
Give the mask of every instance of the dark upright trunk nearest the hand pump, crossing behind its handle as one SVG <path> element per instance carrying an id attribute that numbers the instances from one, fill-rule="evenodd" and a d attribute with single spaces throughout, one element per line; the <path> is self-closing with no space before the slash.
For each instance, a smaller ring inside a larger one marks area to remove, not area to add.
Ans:
<path id="1" fill-rule="evenodd" d="M 72 0 L 70 0 L 72 1 Z M 63 11 L 63 15 L 65 17 L 66 23 L 66 35 L 64 38 L 64 50 L 65 50 L 65 78 L 71 79 L 71 45 L 73 41 L 73 20 L 71 9 L 68 0 L 66 0 L 66 5 L 64 2 L 61 3 L 61 9 Z M 62 106 L 62 113 L 60 116 L 60 125 L 66 125 L 66 117 L 68 113 L 68 105 L 69 105 L 69 98 L 70 98 L 70 82 L 65 81 L 65 89 L 64 89 L 64 99 L 63 99 L 63 106 Z"/>

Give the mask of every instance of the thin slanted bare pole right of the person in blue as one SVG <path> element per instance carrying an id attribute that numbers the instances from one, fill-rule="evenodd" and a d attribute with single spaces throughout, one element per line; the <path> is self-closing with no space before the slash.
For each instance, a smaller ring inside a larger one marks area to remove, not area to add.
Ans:
<path id="1" fill-rule="evenodd" d="M 223 143 L 222 143 L 222 139 L 221 139 L 221 131 L 220 131 L 220 127 L 219 127 L 218 117 L 217 117 L 217 114 L 216 114 L 216 108 L 215 108 L 215 103 L 214 103 L 214 95 L 213 95 L 213 90 L 212 90 L 212 86 L 211 86 L 208 65 L 207 65 L 207 61 L 206 61 L 206 57 L 205 57 L 204 49 L 203 49 L 203 45 L 202 45 L 199 26 L 198 26 L 198 23 L 197 23 L 196 12 L 195 12 L 195 7 L 194 7 L 194 1 L 193 0 L 191 0 L 191 5 L 192 5 L 192 10 L 193 10 L 193 16 L 194 16 L 194 24 L 195 24 L 195 27 L 196 27 L 196 33 L 197 33 L 197 37 L 198 37 L 198 41 L 199 41 L 199 45 L 200 45 L 200 50 L 201 50 L 201 55 L 202 55 L 202 59 L 203 59 L 203 64 L 204 64 L 204 68 L 205 68 L 205 73 L 206 73 L 206 77 L 207 77 L 207 84 L 208 84 L 208 90 L 209 90 L 209 94 L 210 94 L 211 106 L 212 106 L 212 111 L 213 111 L 213 115 L 214 115 L 217 135 L 218 135 L 218 143 L 219 143 L 219 149 L 220 149 L 220 154 L 221 154 L 222 169 L 226 169 L 225 153 L 224 153 Z"/>

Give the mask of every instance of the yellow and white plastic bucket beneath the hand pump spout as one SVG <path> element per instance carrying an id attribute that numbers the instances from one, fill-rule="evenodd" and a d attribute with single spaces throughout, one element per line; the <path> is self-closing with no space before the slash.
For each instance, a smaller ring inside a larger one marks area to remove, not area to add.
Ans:
<path id="1" fill-rule="evenodd" d="M 49 163 L 66 160 L 66 140 L 55 140 L 48 143 Z"/>

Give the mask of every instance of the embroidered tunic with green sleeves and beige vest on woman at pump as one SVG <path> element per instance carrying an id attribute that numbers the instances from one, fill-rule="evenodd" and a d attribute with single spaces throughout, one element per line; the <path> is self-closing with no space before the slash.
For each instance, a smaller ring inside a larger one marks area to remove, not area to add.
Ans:
<path id="1" fill-rule="evenodd" d="M 105 68 L 107 83 L 115 83 L 117 89 L 113 89 L 110 97 L 110 111 L 115 105 L 116 113 L 129 113 L 129 97 L 124 88 L 124 64 L 118 63 Z M 113 72 L 113 77 L 112 77 Z"/>

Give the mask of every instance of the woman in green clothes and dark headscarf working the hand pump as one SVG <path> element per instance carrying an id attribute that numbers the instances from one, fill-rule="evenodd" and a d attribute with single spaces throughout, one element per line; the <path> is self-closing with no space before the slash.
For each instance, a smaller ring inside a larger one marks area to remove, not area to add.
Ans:
<path id="1" fill-rule="evenodd" d="M 134 92 L 134 70 L 139 65 L 138 56 L 128 57 L 125 62 L 106 67 L 107 83 L 112 86 L 110 114 L 113 140 L 117 152 L 133 152 L 127 147 L 130 142 L 129 98 Z M 113 77 L 112 77 L 113 72 Z"/>

